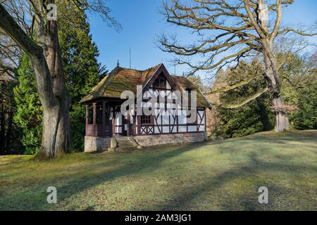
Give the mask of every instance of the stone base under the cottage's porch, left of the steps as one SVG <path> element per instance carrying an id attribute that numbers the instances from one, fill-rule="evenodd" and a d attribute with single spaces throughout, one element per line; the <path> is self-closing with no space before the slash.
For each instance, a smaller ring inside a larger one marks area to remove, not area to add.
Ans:
<path id="1" fill-rule="evenodd" d="M 110 148 L 111 138 L 85 136 L 85 153 L 102 152 Z"/>

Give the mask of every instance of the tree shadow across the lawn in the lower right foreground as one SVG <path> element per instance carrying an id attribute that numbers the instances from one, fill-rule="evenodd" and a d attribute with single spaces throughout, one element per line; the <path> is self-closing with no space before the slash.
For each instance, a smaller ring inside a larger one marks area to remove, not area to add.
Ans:
<path id="1" fill-rule="evenodd" d="M 259 153 L 261 154 L 266 150 L 268 149 L 261 147 L 259 148 Z M 225 152 L 225 149 L 223 149 L 222 152 Z M 302 200 L 302 198 L 300 196 L 294 198 L 294 196 L 298 195 L 296 191 L 292 190 L 291 188 L 285 188 L 284 186 L 277 186 L 273 184 L 270 179 L 254 182 L 254 184 L 251 184 L 249 189 L 244 190 L 242 195 L 239 196 L 228 193 L 227 197 L 225 193 L 216 192 L 219 191 L 222 186 L 230 184 L 232 180 L 237 178 L 252 179 L 252 177 L 255 178 L 259 172 L 270 172 L 272 174 L 274 174 L 274 172 L 292 172 L 292 175 L 300 178 L 303 176 L 303 170 L 310 173 L 317 171 L 317 167 L 314 166 L 288 165 L 287 163 L 282 162 L 263 162 L 259 160 L 259 157 L 256 153 L 250 153 L 249 160 L 250 162 L 240 169 L 230 169 L 217 176 L 210 176 L 209 179 L 203 183 L 195 184 L 187 191 L 178 193 L 178 195 L 176 195 L 172 200 L 169 200 L 163 205 L 156 205 L 156 210 L 211 210 L 214 208 L 213 200 L 215 199 L 212 199 L 212 197 L 209 200 L 199 199 L 204 198 L 205 193 L 213 193 L 209 196 L 217 194 L 222 196 L 222 198 L 220 198 L 220 204 L 217 203 L 217 210 L 279 210 L 279 207 L 282 207 L 282 210 L 292 210 L 292 207 L 294 209 L 296 205 L 299 206 L 299 200 Z M 260 186 L 267 186 L 269 192 L 273 193 L 271 196 L 275 197 L 271 198 L 271 203 L 269 205 L 260 205 L 258 202 L 258 196 L 260 194 L 258 193 L 258 188 Z M 288 198 L 284 200 L 284 205 L 281 205 L 280 202 L 277 202 L 280 195 L 288 196 Z M 203 208 L 199 208 L 199 206 L 195 205 L 197 204 L 197 201 L 201 200 L 205 201 L 206 206 Z M 306 196 L 305 200 L 306 202 L 299 206 L 299 210 L 317 209 L 317 205 L 313 199 Z M 206 204 L 206 202 L 209 204 Z M 147 210 L 147 207 L 144 207 L 142 210 Z"/>

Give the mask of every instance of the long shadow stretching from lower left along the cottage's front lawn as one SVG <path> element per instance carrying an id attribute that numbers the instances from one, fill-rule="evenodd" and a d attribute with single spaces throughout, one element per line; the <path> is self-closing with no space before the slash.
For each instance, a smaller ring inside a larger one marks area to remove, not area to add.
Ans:
<path id="1" fill-rule="evenodd" d="M 194 146 L 194 148 L 193 148 Z M 46 203 L 46 188 L 48 186 L 56 186 L 58 191 L 58 203 L 63 202 L 67 198 L 80 193 L 88 188 L 103 184 L 106 181 L 113 181 L 118 177 L 130 176 L 142 172 L 151 173 L 161 167 L 162 163 L 169 158 L 174 158 L 189 150 L 194 150 L 197 147 L 204 146 L 204 144 L 194 144 L 193 146 L 178 146 L 175 150 L 151 150 L 153 155 L 147 152 L 140 152 L 135 154 L 129 154 L 130 158 L 121 158 L 119 153 L 118 158 L 113 160 L 106 160 L 105 162 L 97 162 L 94 165 L 87 165 L 85 175 L 80 176 L 74 172 L 70 175 L 60 174 L 51 180 L 37 181 L 35 186 L 23 187 L 23 191 L 19 193 L 12 193 L 10 195 L 0 196 L 0 210 L 49 210 L 51 205 Z M 114 153 L 116 154 L 116 153 Z M 43 163 L 45 165 L 45 162 Z M 116 166 L 119 164 L 120 166 Z M 108 169 L 114 167 L 113 169 Z M 67 168 L 66 168 L 67 169 Z M 31 178 L 32 179 L 32 178 Z M 66 181 L 66 182 L 64 182 Z M 75 209 L 74 209 L 75 210 Z M 87 207 L 87 210 L 92 208 Z"/>

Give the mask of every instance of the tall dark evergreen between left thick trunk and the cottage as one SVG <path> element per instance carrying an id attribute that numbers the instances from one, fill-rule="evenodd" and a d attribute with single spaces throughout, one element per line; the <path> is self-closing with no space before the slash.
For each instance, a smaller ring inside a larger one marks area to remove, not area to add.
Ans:
<path id="1" fill-rule="evenodd" d="M 71 97 L 70 130 L 73 149 L 84 148 L 85 109 L 79 101 L 99 82 L 99 76 L 105 72 L 97 62 L 99 51 L 89 34 L 89 23 L 84 12 L 77 12 L 75 26 L 61 24 L 59 40 L 61 41 L 63 68 L 66 72 L 67 88 Z"/>

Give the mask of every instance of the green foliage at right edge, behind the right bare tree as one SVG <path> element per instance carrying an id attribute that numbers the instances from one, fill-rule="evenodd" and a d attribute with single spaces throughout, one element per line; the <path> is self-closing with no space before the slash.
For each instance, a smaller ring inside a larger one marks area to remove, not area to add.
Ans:
<path id="1" fill-rule="evenodd" d="M 285 103 L 297 107 L 289 116 L 294 129 L 317 129 L 316 57 L 316 52 L 306 59 L 289 53 L 280 69 Z"/>

